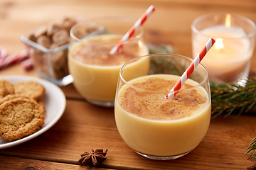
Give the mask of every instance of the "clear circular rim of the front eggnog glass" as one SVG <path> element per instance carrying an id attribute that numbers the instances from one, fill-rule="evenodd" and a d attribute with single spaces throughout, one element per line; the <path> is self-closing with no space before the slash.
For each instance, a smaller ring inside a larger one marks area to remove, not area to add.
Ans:
<path id="1" fill-rule="evenodd" d="M 124 64 L 122 65 L 120 71 L 119 71 L 119 78 L 122 80 L 122 82 L 124 82 L 125 85 L 127 85 L 127 86 L 129 86 L 129 87 L 131 87 L 131 88 L 133 88 L 133 89 L 137 89 L 137 90 L 139 90 L 139 91 L 147 91 L 147 92 L 150 92 L 150 93 L 162 93 L 162 92 L 165 92 L 165 91 L 150 91 L 150 90 L 146 90 L 146 89 L 139 88 L 139 87 L 137 87 L 137 86 L 134 86 L 134 85 L 132 85 L 132 84 L 129 84 L 129 82 L 126 81 L 126 80 L 124 79 L 124 77 L 122 77 L 122 70 L 124 69 L 124 67 L 127 66 L 127 64 L 129 64 L 129 63 L 131 63 L 131 62 L 134 62 L 134 60 L 139 60 L 139 59 L 141 59 L 141 58 L 143 58 L 143 57 L 158 57 L 158 56 L 179 57 L 179 58 L 183 58 L 183 59 L 185 59 L 185 60 L 188 60 L 188 61 L 190 61 L 190 62 L 193 62 L 193 60 L 192 60 L 190 57 L 186 57 L 186 56 L 183 56 L 183 55 L 177 55 L 177 54 L 150 54 L 150 55 L 143 55 L 143 56 L 136 57 L 136 58 L 134 58 L 134 59 L 132 59 L 132 60 L 129 60 L 128 62 L 124 63 Z M 179 91 L 188 91 L 188 90 L 191 90 L 191 89 L 196 89 L 197 87 L 202 86 L 203 84 L 206 83 L 206 81 L 208 80 L 208 72 L 207 72 L 207 69 L 206 69 L 206 67 L 204 67 L 203 64 L 201 64 L 201 63 L 198 64 L 198 67 L 201 67 L 201 68 L 204 70 L 204 72 L 206 73 L 206 76 L 203 78 L 203 80 L 201 80 L 201 82 L 196 81 L 196 83 L 197 83 L 196 86 L 193 86 L 193 87 L 188 88 L 188 89 L 182 89 L 182 90 L 180 89 Z M 148 75 L 146 75 L 146 76 L 150 76 L 150 75 L 154 75 L 154 74 L 148 74 Z M 161 75 L 165 75 L 165 74 L 161 74 Z M 166 74 L 166 75 L 171 75 L 171 74 Z M 175 75 L 175 76 L 177 76 L 177 75 Z M 178 76 L 178 77 L 179 77 L 179 76 Z M 137 79 L 137 78 L 135 78 L 135 79 Z M 189 79 L 189 77 L 188 77 L 188 79 Z M 133 80 L 133 79 L 132 79 L 132 80 Z M 193 79 L 191 79 L 191 80 L 193 80 Z M 193 81 L 195 81 L 195 80 L 193 80 Z M 186 82 L 185 82 L 185 83 L 186 83 Z M 171 93 L 173 94 L 174 92 L 171 92 Z"/>

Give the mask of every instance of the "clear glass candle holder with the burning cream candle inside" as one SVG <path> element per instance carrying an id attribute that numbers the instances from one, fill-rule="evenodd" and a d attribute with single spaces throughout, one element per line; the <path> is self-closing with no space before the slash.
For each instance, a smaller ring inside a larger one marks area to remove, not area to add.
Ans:
<path id="1" fill-rule="evenodd" d="M 216 40 L 202 64 L 210 81 L 218 84 L 244 84 L 250 71 L 256 27 L 250 19 L 230 13 L 209 13 L 192 25 L 193 57 L 209 38 Z"/>

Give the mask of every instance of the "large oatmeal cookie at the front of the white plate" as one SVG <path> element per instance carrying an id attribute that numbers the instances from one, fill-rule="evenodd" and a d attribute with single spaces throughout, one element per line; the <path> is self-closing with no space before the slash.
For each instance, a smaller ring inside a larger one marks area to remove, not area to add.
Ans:
<path id="1" fill-rule="evenodd" d="M 0 136 L 19 140 L 43 127 L 45 114 L 31 98 L 14 98 L 0 105 Z"/>

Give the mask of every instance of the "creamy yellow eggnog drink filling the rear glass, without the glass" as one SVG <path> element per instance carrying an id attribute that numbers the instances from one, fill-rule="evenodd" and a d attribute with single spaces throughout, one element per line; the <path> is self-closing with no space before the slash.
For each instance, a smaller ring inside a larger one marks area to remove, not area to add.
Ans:
<path id="1" fill-rule="evenodd" d="M 122 35 L 97 35 L 75 42 L 68 56 L 69 72 L 73 76 L 75 89 L 92 103 L 114 102 L 117 79 L 122 64 L 135 57 L 149 53 L 141 40 L 124 42 L 122 52 L 110 55 Z M 149 60 L 139 60 L 133 65 L 139 67 L 138 74 L 149 71 Z"/>

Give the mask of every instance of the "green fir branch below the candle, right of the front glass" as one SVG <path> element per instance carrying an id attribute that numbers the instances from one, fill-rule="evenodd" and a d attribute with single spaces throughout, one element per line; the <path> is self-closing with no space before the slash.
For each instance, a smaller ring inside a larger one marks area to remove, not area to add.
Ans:
<path id="1" fill-rule="evenodd" d="M 247 113 L 256 103 L 256 79 L 248 77 L 245 86 L 210 82 L 213 118 L 225 113 Z"/>

